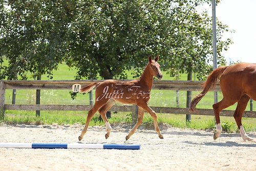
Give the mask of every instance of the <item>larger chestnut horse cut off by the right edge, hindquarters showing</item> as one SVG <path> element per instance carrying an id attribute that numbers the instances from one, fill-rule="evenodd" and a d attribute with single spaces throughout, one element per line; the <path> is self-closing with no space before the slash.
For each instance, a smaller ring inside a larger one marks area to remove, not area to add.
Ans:
<path id="1" fill-rule="evenodd" d="M 241 119 L 249 99 L 256 100 L 256 63 L 237 63 L 212 71 L 203 84 L 203 91 L 191 101 L 190 111 L 195 111 L 197 103 L 210 89 L 214 88 L 219 77 L 223 99 L 212 105 L 217 123 L 214 139 L 219 138 L 222 132 L 220 111 L 238 102 L 233 117 L 243 140 L 253 140 L 245 133 Z"/>

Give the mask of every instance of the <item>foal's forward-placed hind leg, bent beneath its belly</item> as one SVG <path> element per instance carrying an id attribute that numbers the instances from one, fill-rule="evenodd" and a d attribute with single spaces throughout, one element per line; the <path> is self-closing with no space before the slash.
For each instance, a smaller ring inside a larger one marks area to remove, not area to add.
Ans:
<path id="1" fill-rule="evenodd" d="M 105 138 L 108 139 L 111 133 L 111 125 L 110 122 L 108 120 L 108 118 L 106 118 L 106 112 L 116 103 L 116 100 L 114 99 L 110 99 L 105 105 L 103 105 L 100 109 L 99 109 L 99 114 L 101 116 L 101 118 L 103 119 L 103 121 L 105 122 L 106 125 L 106 134 L 105 134 Z"/>

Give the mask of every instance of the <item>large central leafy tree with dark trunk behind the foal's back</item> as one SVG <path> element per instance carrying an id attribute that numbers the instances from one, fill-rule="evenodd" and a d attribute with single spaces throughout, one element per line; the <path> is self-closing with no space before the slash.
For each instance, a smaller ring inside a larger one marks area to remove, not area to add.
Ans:
<path id="1" fill-rule="evenodd" d="M 80 2 L 80 11 L 69 30 L 69 66 L 77 79 L 126 78 L 134 64 L 144 67 L 155 45 L 154 21 L 142 1 Z M 151 36 L 150 36 L 151 34 Z"/>

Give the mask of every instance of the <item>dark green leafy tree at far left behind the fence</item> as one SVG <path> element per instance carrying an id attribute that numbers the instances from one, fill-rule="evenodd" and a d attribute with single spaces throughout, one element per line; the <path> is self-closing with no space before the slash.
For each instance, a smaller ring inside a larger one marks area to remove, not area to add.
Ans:
<path id="1" fill-rule="evenodd" d="M 9 66 L 1 65 L 1 79 L 27 79 L 48 74 L 63 61 L 68 24 L 73 15 L 73 4 L 67 1 L 1 1 L 2 54 Z M 3 59 L 3 57 L 1 58 Z M 1 62 L 2 63 L 2 62 Z"/>

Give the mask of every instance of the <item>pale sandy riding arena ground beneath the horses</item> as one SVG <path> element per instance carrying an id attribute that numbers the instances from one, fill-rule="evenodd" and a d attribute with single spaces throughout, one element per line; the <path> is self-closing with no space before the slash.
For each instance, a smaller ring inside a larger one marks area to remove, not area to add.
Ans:
<path id="1" fill-rule="evenodd" d="M 1 125 L 0 142 L 78 143 L 82 125 Z M 89 127 L 81 143 L 134 143 L 139 150 L 0 148 L 0 170 L 256 170 L 256 142 L 240 134 L 181 130 L 161 125 L 164 139 L 154 130 L 139 128 L 124 142 L 131 126 Z M 256 133 L 248 133 L 256 139 Z"/>

